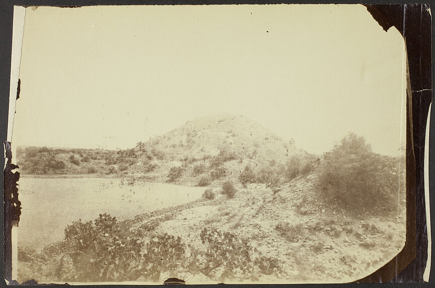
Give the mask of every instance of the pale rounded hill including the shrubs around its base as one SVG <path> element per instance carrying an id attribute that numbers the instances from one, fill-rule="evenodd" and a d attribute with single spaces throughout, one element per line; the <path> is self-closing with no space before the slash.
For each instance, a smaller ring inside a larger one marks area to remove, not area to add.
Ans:
<path id="1" fill-rule="evenodd" d="M 267 178 L 278 173 L 272 170 L 283 172 L 285 163 L 295 155 L 310 158 L 254 121 L 231 114 L 194 119 L 139 142 L 133 150 L 137 161 L 127 170 L 130 174 L 201 186 L 220 184 L 223 179 L 235 181 L 247 166 L 254 173 L 267 169 Z"/>

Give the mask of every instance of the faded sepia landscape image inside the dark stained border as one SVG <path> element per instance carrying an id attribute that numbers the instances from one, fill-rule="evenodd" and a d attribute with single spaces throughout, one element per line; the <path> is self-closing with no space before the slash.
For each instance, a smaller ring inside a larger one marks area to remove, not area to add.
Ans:
<path id="1" fill-rule="evenodd" d="M 406 45 L 367 7 L 22 9 L 18 282 L 342 283 L 403 249 Z"/>

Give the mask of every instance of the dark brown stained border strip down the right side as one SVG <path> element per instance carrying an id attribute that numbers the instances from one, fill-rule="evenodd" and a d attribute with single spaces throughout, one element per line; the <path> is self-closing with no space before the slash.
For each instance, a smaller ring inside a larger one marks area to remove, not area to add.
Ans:
<path id="1" fill-rule="evenodd" d="M 385 31 L 394 26 L 405 39 L 407 87 L 406 162 L 407 229 L 403 250 L 375 273 L 358 282 L 421 282 L 427 259 L 424 199 L 426 120 L 432 100 L 431 16 L 428 5 L 366 5 Z M 409 87 L 410 85 L 410 87 Z M 409 104 L 412 104 L 409 106 Z"/>

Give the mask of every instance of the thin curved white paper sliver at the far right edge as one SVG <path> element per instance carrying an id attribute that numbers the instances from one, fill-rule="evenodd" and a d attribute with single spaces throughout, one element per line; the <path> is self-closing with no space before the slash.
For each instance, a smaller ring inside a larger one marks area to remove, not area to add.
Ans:
<path id="1" fill-rule="evenodd" d="M 430 260 L 432 253 L 432 239 L 430 236 L 430 207 L 429 207 L 429 125 L 430 125 L 430 109 L 432 103 L 429 105 L 429 110 L 427 111 L 427 121 L 426 121 L 426 139 L 424 144 L 424 202 L 426 206 L 426 232 L 427 232 L 427 260 L 426 267 L 423 273 L 423 281 L 429 282 L 430 274 Z"/>

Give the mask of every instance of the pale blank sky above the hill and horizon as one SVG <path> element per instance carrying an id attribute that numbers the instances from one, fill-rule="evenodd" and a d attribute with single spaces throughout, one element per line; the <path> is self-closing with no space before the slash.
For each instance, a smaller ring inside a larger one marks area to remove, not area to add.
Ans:
<path id="1" fill-rule="evenodd" d="M 404 57 L 361 5 L 27 8 L 12 141 L 125 149 L 231 112 L 311 153 L 353 131 L 397 155 Z"/>

